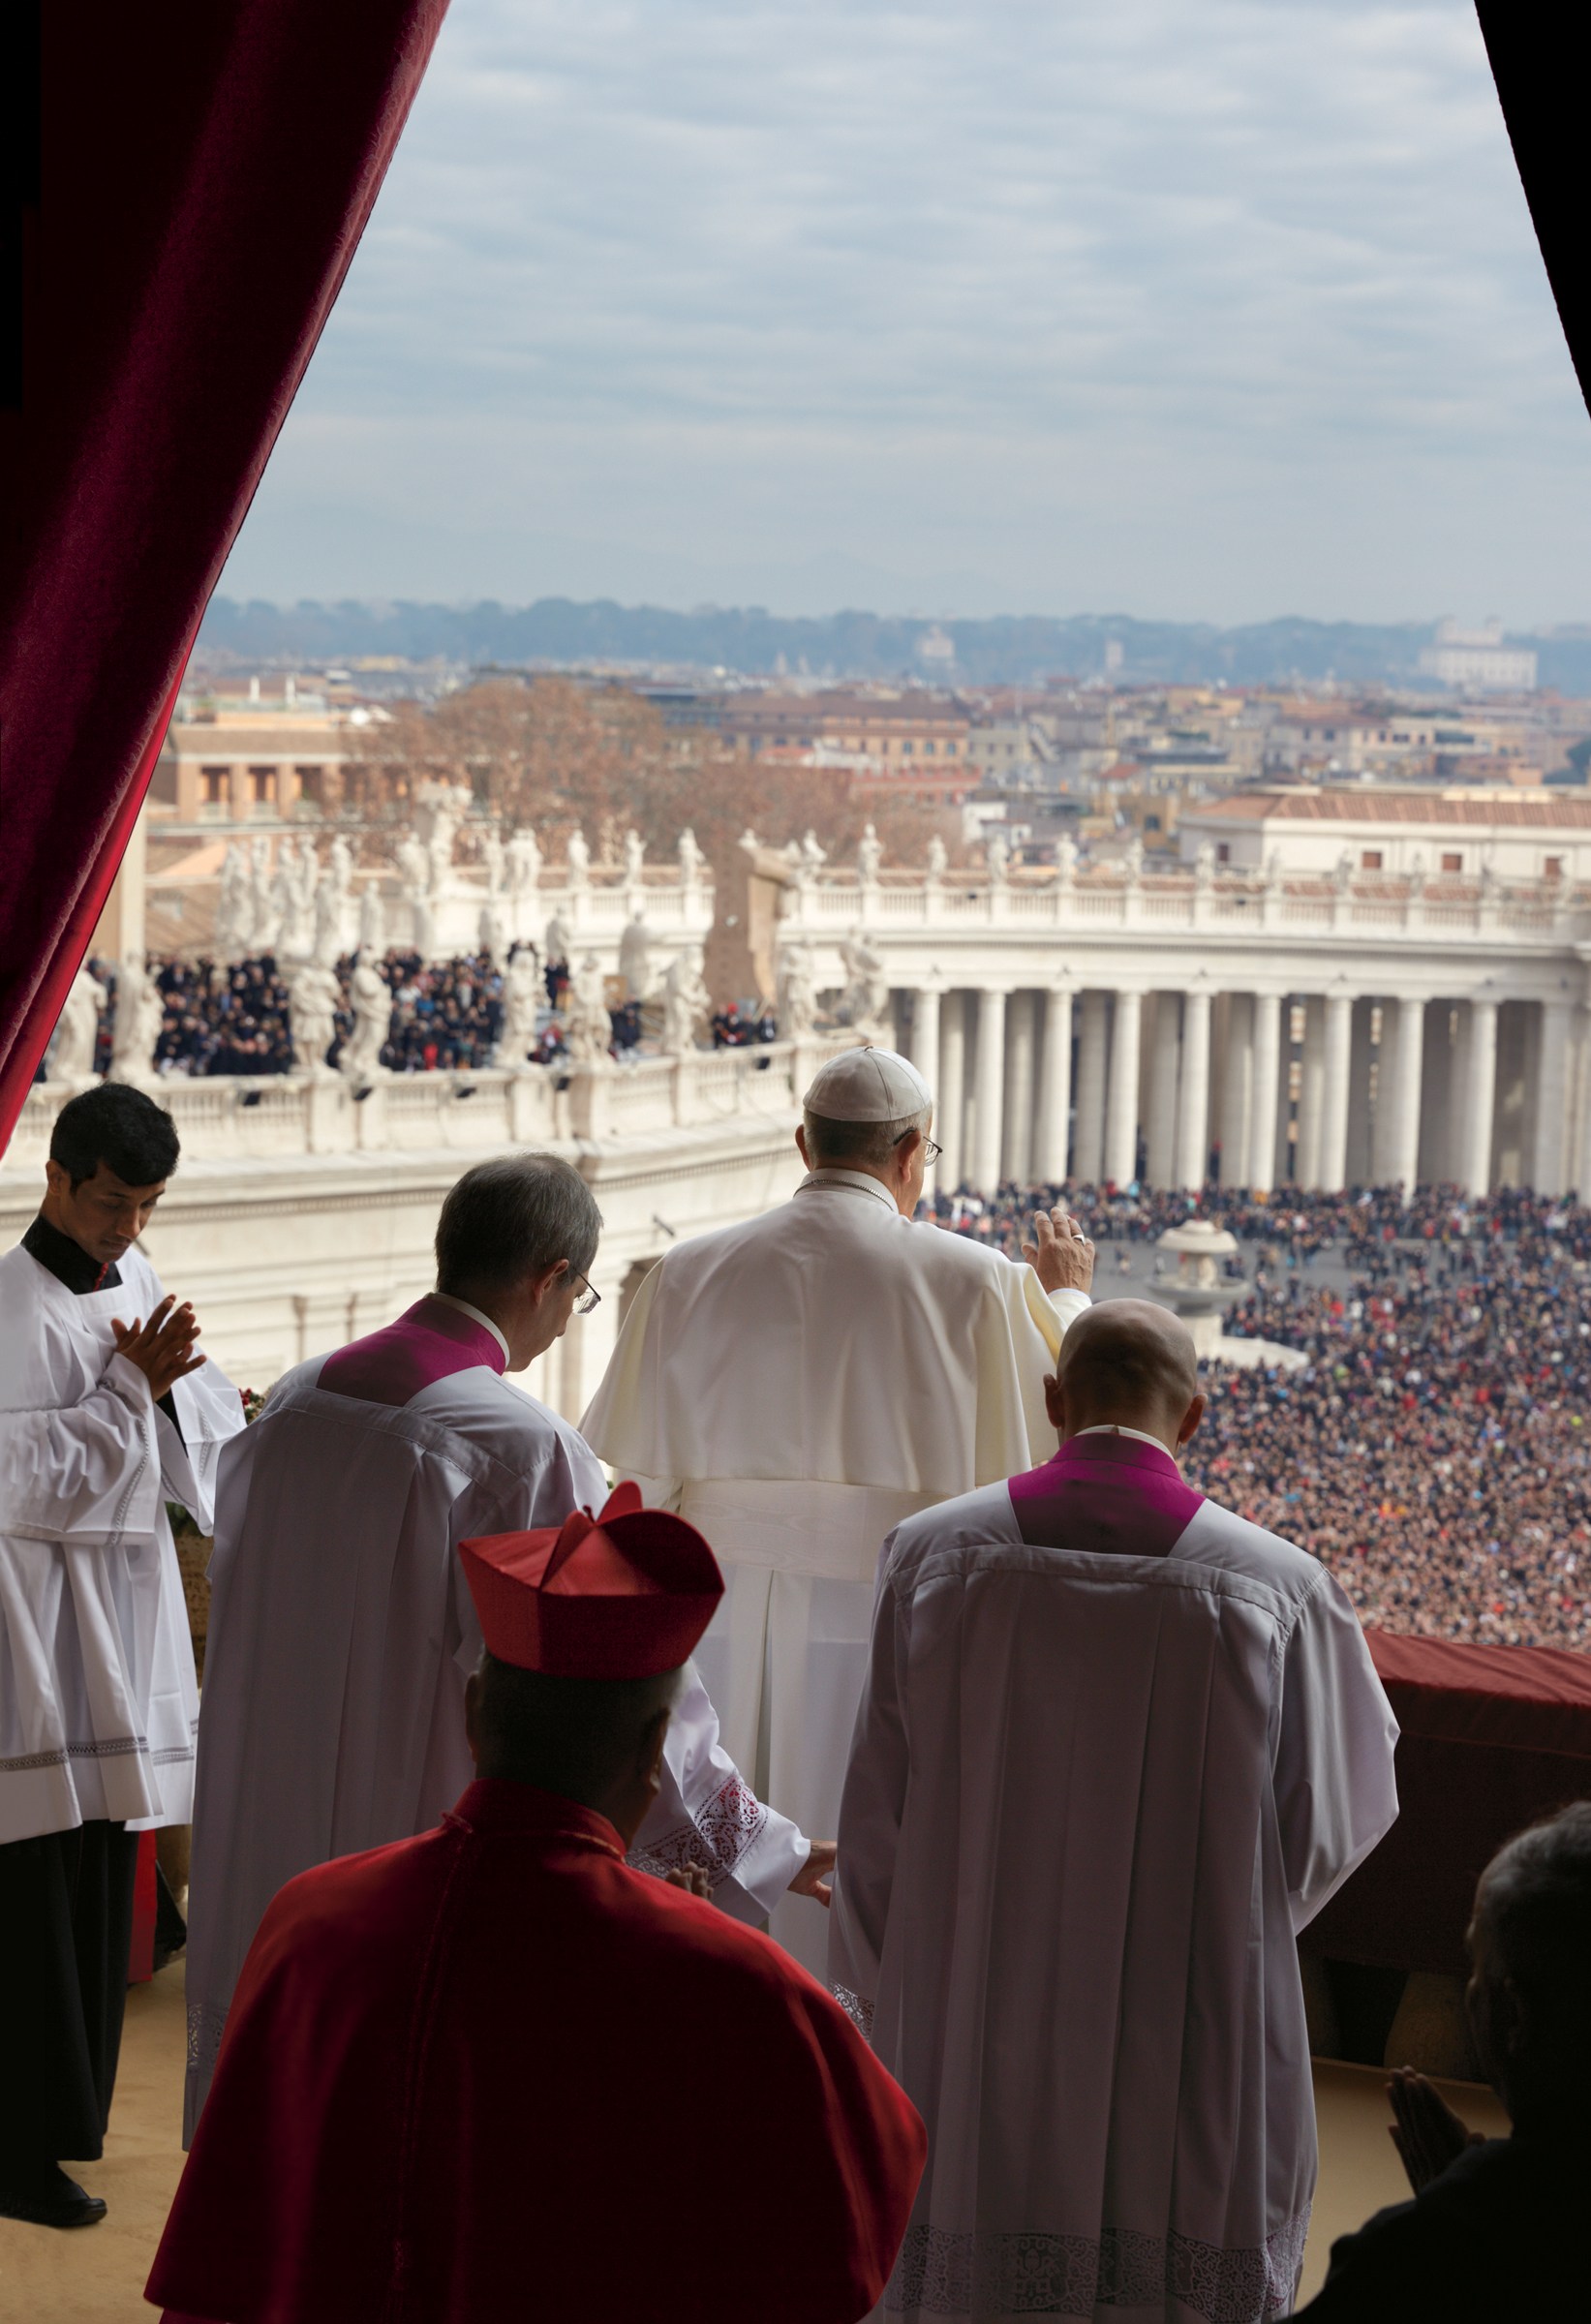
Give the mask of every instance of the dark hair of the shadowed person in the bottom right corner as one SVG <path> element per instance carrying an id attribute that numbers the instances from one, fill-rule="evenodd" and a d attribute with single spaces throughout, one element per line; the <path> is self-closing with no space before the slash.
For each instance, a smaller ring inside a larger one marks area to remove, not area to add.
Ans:
<path id="1" fill-rule="evenodd" d="M 1498 1848 L 1480 1875 L 1475 1917 L 1519 1994 L 1558 2038 L 1591 2043 L 1591 1799 L 1577 1799 Z"/>

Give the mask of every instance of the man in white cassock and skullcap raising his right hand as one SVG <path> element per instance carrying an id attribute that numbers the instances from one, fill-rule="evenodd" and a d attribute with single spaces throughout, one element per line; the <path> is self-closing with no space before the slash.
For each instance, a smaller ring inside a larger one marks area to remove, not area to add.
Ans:
<path id="1" fill-rule="evenodd" d="M 892 1050 L 845 1050 L 804 1109 L 794 1197 L 669 1250 L 581 1427 L 713 1541 L 729 1587 L 697 1662 L 729 1755 L 832 1834 L 878 1545 L 1038 1457 L 1094 1246 L 1064 1211 L 1036 1220 L 1029 1264 L 915 1225 L 934 1109 Z M 771 1929 L 822 1975 L 822 1922 L 780 1903 Z"/>

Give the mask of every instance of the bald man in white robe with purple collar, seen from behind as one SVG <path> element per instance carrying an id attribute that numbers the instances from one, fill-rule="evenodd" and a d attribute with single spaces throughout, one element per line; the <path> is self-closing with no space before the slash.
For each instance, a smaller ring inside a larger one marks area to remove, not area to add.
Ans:
<path id="1" fill-rule="evenodd" d="M 929 2124 L 890 2312 L 1261 2324 L 1315 2189 L 1294 1936 L 1396 1724 L 1326 1566 L 1182 1483 L 1182 1322 L 1094 1308 L 1050 1413 L 880 1571 L 829 1980 Z"/>

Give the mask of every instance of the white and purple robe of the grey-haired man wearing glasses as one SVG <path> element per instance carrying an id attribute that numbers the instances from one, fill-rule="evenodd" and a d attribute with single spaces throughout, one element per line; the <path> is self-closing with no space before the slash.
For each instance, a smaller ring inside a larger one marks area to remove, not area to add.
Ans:
<path id="1" fill-rule="evenodd" d="M 420 1299 L 383 1332 L 288 1371 L 223 1462 L 183 2143 L 244 1954 L 283 1880 L 427 1831 L 474 1776 L 465 1680 L 481 1624 L 458 1543 L 562 1525 L 606 1501 L 590 1448 L 502 1376 L 506 1355 L 478 1308 Z M 653 1873 L 701 1862 L 718 1906 L 762 1920 L 808 1843 L 741 1783 L 694 1673 L 662 1778 L 629 1862 Z"/>

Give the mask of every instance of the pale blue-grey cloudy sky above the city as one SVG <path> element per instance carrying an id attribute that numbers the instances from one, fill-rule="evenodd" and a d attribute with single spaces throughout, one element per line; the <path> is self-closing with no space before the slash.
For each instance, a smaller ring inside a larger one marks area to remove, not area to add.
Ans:
<path id="1" fill-rule="evenodd" d="M 221 588 L 1584 621 L 1463 0 L 453 0 Z"/>

